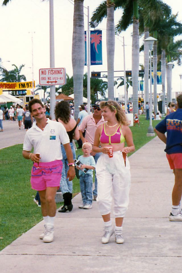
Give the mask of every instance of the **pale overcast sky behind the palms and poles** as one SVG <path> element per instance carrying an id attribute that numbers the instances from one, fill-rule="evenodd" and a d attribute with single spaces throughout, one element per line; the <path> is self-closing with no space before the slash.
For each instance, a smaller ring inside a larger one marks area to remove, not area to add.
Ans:
<path id="1" fill-rule="evenodd" d="M 12 64 L 17 66 L 25 64 L 22 73 L 27 81 L 32 80 L 32 35 L 33 35 L 33 71 L 36 84 L 39 83 L 39 69 L 49 68 L 49 1 L 45 0 L 11 0 L 6 7 L 0 6 L 1 12 L 1 45 L 0 58 L 3 66 L 10 70 Z M 177 19 L 182 21 L 181 0 L 164 1 L 171 6 L 173 13 L 178 12 Z M 101 3 L 100 0 L 84 0 L 84 6 L 90 7 L 90 17 L 94 9 Z M 71 77 L 73 75 L 71 51 L 73 35 L 73 2 L 70 0 L 54 0 L 54 38 L 55 38 L 55 67 L 65 67 Z M 84 9 L 85 30 L 87 28 L 87 9 Z M 115 25 L 121 18 L 122 10 L 115 12 Z M 102 53 L 103 65 L 92 65 L 91 71 L 106 71 L 106 19 L 98 28 L 103 30 Z M 34 33 L 35 32 L 35 33 Z M 132 52 L 132 27 L 121 33 L 125 37 L 126 69 L 131 70 Z M 181 39 L 178 37 L 177 39 Z M 115 70 L 123 70 L 123 47 L 122 38 L 115 38 Z M 140 39 L 140 45 L 143 38 Z M 140 54 L 140 63 L 143 63 L 143 53 Z M 7 62 L 10 61 L 10 62 Z M 86 67 L 85 71 L 86 72 Z M 179 74 L 181 67 L 175 64 L 172 78 L 172 92 L 180 91 Z M 120 73 L 115 74 L 120 75 Z M 162 86 L 158 85 L 158 92 Z M 167 87 L 166 87 L 167 89 Z M 117 89 L 118 93 L 124 94 L 124 89 Z M 132 88 L 129 88 L 132 93 Z"/>

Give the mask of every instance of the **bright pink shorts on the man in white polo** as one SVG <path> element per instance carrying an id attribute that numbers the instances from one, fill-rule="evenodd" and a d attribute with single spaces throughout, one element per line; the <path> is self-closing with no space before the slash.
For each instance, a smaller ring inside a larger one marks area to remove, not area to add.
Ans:
<path id="1" fill-rule="evenodd" d="M 63 163 L 61 160 L 51 162 L 34 162 L 31 171 L 31 185 L 34 190 L 46 190 L 47 187 L 59 187 Z"/>

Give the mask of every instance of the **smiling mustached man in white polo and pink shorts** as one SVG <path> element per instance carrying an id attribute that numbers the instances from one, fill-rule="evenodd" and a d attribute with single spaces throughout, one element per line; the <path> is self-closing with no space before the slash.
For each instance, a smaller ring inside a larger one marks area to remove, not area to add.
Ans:
<path id="1" fill-rule="evenodd" d="M 25 159 L 31 159 L 34 162 L 30 182 L 32 188 L 39 192 L 45 221 L 45 231 L 40 235 L 40 239 L 50 243 L 54 238 L 55 194 L 59 188 L 62 171 L 61 143 L 64 145 L 69 162 L 70 181 L 75 177 L 73 153 L 65 127 L 60 122 L 46 118 L 42 102 L 32 99 L 28 107 L 36 121 L 26 132 L 22 154 Z M 32 147 L 34 151 L 30 153 Z"/>

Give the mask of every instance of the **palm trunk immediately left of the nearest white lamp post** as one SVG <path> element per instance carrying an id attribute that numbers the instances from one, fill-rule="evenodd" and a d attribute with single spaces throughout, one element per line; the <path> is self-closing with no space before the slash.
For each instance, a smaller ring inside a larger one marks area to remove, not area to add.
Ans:
<path id="1" fill-rule="evenodd" d="M 149 28 L 144 27 L 144 40 L 149 37 Z M 148 79 L 149 79 L 149 49 L 147 42 L 144 41 L 144 108 L 146 106 L 146 102 L 149 102 L 149 87 L 148 87 Z"/>

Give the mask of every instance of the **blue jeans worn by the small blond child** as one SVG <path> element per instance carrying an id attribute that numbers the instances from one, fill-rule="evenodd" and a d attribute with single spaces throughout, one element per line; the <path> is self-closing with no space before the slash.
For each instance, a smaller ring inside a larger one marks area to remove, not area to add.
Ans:
<path id="1" fill-rule="evenodd" d="M 80 191 L 82 195 L 83 204 L 92 205 L 92 175 L 80 175 Z"/>

